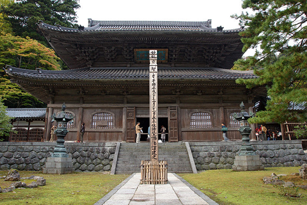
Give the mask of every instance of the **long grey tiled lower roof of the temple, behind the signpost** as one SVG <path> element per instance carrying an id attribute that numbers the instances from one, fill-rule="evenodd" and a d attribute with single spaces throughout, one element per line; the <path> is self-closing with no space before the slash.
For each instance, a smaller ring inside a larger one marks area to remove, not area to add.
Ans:
<path id="1" fill-rule="evenodd" d="M 141 68 L 83 68 L 64 71 L 26 70 L 7 67 L 12 76 L 50 80 L 123 80 L 148 79 L 149 67 Z M 256 78 L 253 71 L 237 71 L 221 68 L 158 68 L 159 79 L 210 79 L 235 80 Z"/>

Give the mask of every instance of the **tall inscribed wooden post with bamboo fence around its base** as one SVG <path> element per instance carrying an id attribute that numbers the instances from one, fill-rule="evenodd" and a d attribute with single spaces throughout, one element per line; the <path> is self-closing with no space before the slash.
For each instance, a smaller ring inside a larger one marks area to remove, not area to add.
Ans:
<path id="1" fill-rule="evenodd" d="M 149 50 L 150 160 L 141 162 L 141 183 L 167 183 L 167 161 L 159 161 L 157 50 Z"/>

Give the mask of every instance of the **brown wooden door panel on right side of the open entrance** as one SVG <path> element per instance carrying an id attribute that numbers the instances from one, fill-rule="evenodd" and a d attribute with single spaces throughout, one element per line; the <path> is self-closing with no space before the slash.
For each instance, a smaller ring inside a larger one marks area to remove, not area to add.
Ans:
<path id="1" fill-rule="evenodd" d="M 170 107 L 168 109 L 168 141 L 176 142 L 178 141 L 178 120 L 177 120 L 177 107 Z"/>

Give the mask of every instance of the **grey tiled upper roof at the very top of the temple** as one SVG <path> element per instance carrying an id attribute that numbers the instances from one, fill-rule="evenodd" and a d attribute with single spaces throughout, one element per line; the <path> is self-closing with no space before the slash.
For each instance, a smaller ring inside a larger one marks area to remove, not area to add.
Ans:
<path id="1" fill-rule="evenodd" d="M 232 33 L 241 31 L 240 28 L 231 30 L 217 31 L 217 28 L 211 28 L 209 21 L 205 22 L 172 22 L 172 21 L 138 21 L 138 20 L 92 20 L 89 19 L 89 27 L 83 29 L 73 29 L 58 26 L 52 26 L 43 22 L 39 27 L 61 31 L 61 32 L 218 32 Z"/>

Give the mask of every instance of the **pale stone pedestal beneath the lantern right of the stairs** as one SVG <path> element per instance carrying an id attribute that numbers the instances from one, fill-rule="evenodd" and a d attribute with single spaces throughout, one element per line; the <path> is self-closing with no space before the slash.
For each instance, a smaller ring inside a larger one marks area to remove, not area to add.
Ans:
<path id="1" fill-rule="evenodd" d="M 257 171 L 265 170 L 259 155 L 235 156 L 233 171 Z"/>

